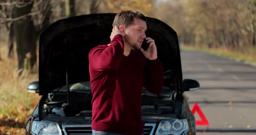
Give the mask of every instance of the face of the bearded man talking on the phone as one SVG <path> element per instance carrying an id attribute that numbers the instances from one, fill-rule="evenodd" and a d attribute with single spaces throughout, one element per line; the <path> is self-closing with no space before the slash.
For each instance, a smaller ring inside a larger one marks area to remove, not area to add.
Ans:
<path id="1" fill-rule="evenodd" d="M 124 41 L 133 49 L 140 49 L 146 38 L 147 24 L 142 19 L 134 18 L 133 24 L 125 28 Z"/>

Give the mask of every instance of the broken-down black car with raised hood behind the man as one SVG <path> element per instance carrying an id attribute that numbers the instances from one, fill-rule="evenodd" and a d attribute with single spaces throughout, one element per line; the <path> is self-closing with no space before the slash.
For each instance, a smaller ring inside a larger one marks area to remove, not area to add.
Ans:
<path id="1" fill-rule="evenodd" d="M 88 54 L 110 42 L 114 18 L 114 13 L 75 16 L 42 32 L 39 81 L 27 87 L 42 96 L 26 124 L 27 135 L 92 135 Z M 164 89 L 157 95 L 142 90 L 144 135 L 195 135 L 195 118 L 184 91 L 196 90 L 199 83 L 182 78 L 176 32 L 158 19 L 147 19 L 146 35 L 154 39 L 163 64 Z"/>

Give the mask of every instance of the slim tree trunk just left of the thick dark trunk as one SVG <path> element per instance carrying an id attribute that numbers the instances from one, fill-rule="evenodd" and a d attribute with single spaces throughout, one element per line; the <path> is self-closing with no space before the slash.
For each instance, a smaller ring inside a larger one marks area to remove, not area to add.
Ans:
<path id="1" fill-rule="evenodd" d="M 8 37 L 8 58 L 13 58 L 14 52 L 13 52 L 13 43 L 14 43 L 14 28 L 13 23 L 10 25 L 9 29 L 9 37 Z"/>

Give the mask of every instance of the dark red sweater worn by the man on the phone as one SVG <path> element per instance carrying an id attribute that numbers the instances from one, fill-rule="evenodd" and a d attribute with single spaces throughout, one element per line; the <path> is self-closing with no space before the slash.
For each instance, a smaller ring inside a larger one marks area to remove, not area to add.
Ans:
<path id="1" fill-rule="evenodd" d="M 158 59 L 148 60 L 136 50 L 124 55 L 121 35 L 89 53 L 92 87 L 92 129 L 141 135 L 141 90 L 160 93 L 163 69 Z"/>

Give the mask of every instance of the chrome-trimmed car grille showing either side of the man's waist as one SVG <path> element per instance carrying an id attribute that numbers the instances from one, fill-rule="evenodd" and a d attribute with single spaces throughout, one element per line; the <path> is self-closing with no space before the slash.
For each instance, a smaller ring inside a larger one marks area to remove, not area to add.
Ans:
<path id="1" fill-rule="evenodd" d="M 153 135 L 156 124 L 145 124 L 143 135 Z M 91 125 L 62 125 L 65 135 L 92 135 Z"/>

